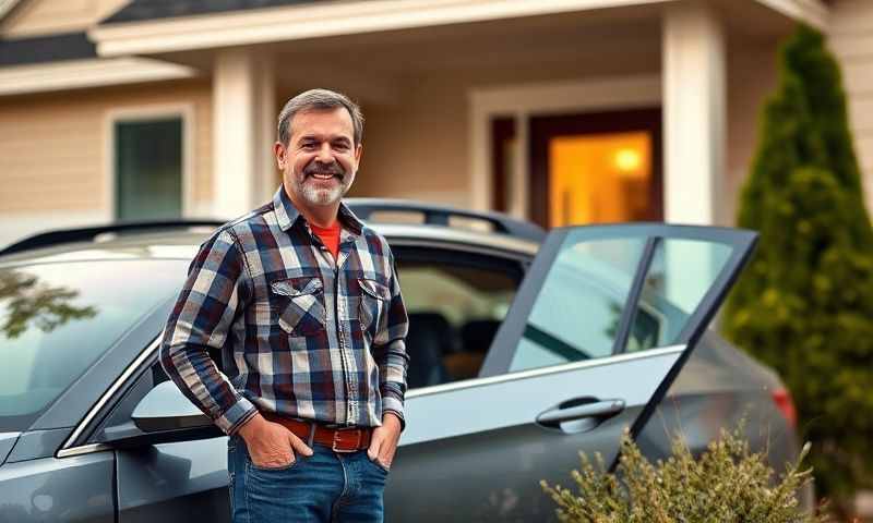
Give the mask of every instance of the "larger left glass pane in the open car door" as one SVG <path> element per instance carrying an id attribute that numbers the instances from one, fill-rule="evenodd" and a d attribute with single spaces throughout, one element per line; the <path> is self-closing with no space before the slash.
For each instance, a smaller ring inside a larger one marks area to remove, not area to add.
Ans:
<path id="1" fill-rule="evenodd" d="M 646 240 L 582 241 L 571 231 L 537 295 L 511 370 L 612 354 Z"/>

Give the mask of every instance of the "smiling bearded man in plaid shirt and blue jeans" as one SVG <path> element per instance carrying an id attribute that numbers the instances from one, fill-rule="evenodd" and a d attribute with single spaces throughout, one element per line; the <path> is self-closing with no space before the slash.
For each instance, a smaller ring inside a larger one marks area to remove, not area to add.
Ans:
<path id="1" fill-rule="evenodd" d="M 383 518 L 407 315 L 385 239 L 342 202 L 362 134 L 338 93 L 290 99 L 274 145 L 282 186 L 201 246 L 167 323 L 164 368 L 230 436 L 238 523 Z"/>

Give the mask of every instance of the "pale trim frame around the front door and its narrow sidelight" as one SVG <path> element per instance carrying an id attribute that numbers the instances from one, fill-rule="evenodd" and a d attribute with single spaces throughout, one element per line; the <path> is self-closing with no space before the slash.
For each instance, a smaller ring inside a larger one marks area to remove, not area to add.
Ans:
<path id="1" fill-rule="evenodd" d="M 470 200 L 477 210 L 490 210 L 492 193 L 490 121 L 514 117 L 516 124 L 515 170 L 512 173 L 509 214 L 528 218 L 528 136 L 531 114 L 581 113 L 661 106 L 659 74 L 602 77 L 585 81 L 517 84 L 469 93 Z"/>

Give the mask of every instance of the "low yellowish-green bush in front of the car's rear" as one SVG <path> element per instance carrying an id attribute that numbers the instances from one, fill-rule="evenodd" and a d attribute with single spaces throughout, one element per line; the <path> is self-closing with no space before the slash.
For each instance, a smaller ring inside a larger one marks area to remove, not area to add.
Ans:
<path id="1" fill-rule="evenodd" d="M 810 481 L 798 462 L 776 481 L 765 457 L 752 453 L 734 433 L 722 431 L 699 459 L 680 438 L 672 457 L 651 464 L 625 433 L 615 474 L 602 458 L 596 466 L 579 453 L 582 470 L 572 476 L 573 494 L 560 485 L 542 488 L 558 503 L 558 519 L 572 523 L 815 523 L 824 516 L 803 513 L 797 492 Z"/>

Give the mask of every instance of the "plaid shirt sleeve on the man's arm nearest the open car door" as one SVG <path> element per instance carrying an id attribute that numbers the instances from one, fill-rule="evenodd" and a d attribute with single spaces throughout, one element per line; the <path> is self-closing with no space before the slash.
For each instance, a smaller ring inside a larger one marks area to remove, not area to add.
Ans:
<path id="1" fill-rule="evenodd" d="M 400 294 L 400 283 L 394 259 L 391 256 L 391 301 L 387 306 L 387 320 L 373 339 L 371 348 L 373 360 L 379 365 L 379 389 L 382 394 L 382 413 L 393 412 L 400 418 L 400 427 L 406 428 L 404 418 L 404 396 L 406 394 L 406 370 L 409 355 L 406 352 L 406 333 L 409 318 Z"/>

